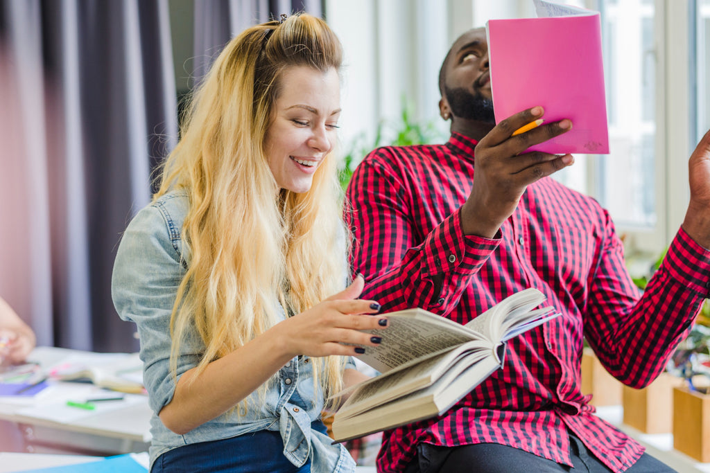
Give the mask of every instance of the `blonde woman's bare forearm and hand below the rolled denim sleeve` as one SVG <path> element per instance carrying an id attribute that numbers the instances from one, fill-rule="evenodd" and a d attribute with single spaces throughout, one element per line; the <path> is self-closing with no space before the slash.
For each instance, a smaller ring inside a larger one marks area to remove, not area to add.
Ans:
<path id="1" fill-rule="evenodd" d="M 356 277 L 344 291 L 209 363 L 199 377 L 196 368 L 188 369 L 178 380 L 173 400 L 158 414 L 160 420 L 185 434 L 234 407 L 297 355 L 359 355 L 362 347 L 376 345 L 373 335 L 358 331 L 386 325 L 385 318 L 367 315 L 376 313 L 379 304 L 355 299 L 364 284 Z"/>

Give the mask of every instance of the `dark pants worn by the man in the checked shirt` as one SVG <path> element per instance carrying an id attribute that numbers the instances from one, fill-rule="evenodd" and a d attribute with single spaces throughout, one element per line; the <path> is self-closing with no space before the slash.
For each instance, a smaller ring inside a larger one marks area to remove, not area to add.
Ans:
<path id="1" fill-rule="evenodd" d="M 404 473 L 609 473 L 603 463 L 592 455 L 574 435 L 569 436 L 569 454 L 574 468 L 532 453 L 498 445 L 479 443 L 461 447 L 437 447 L 428 443 L 417 445 L 417 456 L 408 464 Z M 643 454 L 638 462 L 626 470 L 628 473 L 671 473 L 674 469 Z"/>

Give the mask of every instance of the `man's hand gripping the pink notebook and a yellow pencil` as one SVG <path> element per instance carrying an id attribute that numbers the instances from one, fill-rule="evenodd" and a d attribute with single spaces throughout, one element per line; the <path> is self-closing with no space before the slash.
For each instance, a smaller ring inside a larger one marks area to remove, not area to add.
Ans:
<path id="1" fill-rule="evenodd" d="M 474 186 L 461 213 L 465 235 L 493 238 L 515 211 L 528 184 L 574 162 L 569 154 L 525 152 L 532 145 L 569 131 L 572 122 L 567 119 L 513 136 L 515 130 L 542 117 L 543 113 L 539 106 L 515 113 L 498 123 L 476 145 Z"/>

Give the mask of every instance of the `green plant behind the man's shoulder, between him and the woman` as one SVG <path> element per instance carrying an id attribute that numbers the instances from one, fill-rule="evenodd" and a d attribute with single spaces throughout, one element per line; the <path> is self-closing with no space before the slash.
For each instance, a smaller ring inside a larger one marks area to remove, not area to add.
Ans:
<path id="1" fill-rule="evenodd" d="M 339 179 L 343 189 L 361 160 L 369 152 L 380 146 L 410 146 L 432 143 L 439 139 L 439 133 L 432 122 L 421 125 L 412 119 L 412 113 L 407 101 L 402 99 L 402 113 L 398 123 L 381 121 L 375 130 L 375 137 L 369 141 L 365 133 L 357 135 L 348 146 L 349 151 L 342 158 Z"/>

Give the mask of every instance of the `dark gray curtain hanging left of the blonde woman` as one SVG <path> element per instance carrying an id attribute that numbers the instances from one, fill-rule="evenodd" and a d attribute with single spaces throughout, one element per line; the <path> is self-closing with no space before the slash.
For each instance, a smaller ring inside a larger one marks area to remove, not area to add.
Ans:
<path id="1" fill-rule="evenodd" d="M 177 136 L 168 1 L 0 7 L 0 296 L 40 345 L 137 350 L 111 269 Z"/>

